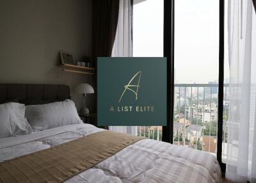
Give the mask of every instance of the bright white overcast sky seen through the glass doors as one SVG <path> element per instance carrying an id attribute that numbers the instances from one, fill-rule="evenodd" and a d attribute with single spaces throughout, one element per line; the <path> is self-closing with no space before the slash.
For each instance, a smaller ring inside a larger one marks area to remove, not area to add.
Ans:
<path id="1" fill-rule="evenodd" d="M 163 0 L 143 1 L 133 11 L 133 56 L 163 56 Z M 175 1 L 175 83 L 218 81 L 218 51 L 219 1 Z M 227 78 L 227 44 L 225 53 Z"/>

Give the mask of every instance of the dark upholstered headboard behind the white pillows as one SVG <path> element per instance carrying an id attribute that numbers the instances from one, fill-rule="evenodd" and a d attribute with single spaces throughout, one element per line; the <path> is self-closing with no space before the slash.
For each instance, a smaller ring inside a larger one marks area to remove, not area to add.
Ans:
<path id="1" fill-rule="evenodd" d="M 0 104 L 47 104 L 70 99 L 70 87 L 61 84 L 0 84 Z"/>

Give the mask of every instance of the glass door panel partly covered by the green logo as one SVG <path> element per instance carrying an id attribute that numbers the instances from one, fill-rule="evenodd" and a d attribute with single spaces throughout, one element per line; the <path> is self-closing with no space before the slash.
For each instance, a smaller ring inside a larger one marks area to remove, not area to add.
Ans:
<path id="1" fill-rule="evenodd" d="M 132 56 L 163 57 L 163 0 L 134 0 Z M 138 136 L 162 139 L 162 127 L 140 126 Z"/>

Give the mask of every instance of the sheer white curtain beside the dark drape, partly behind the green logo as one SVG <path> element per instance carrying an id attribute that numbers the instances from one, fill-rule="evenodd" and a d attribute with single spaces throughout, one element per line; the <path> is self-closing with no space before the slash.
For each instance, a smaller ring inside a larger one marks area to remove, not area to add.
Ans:
<path id="1" fill-rule="evenodd" d="M 131 0 L 120 0 L 113 57 L 132 56 L 132 4 Z M 110 126 L 109 130 L 137 134 L 135 126 Z"/>

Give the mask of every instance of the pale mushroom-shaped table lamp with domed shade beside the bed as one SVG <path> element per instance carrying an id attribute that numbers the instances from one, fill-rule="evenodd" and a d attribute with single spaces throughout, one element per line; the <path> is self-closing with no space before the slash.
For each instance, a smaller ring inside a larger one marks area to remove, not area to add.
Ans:
<path id="1" fill-rule="evenodd" d="M 90 84 L 87 83 L 81 83 L 76 86 L 76 93 L 82 93 L 83 94 L 83 108 L 80 110 L 81 114 L 89 114 L 89 109 L 85 107 L 85 100 L 86 100 L 86 93 L 94 93 L 94 90 Z"/>

